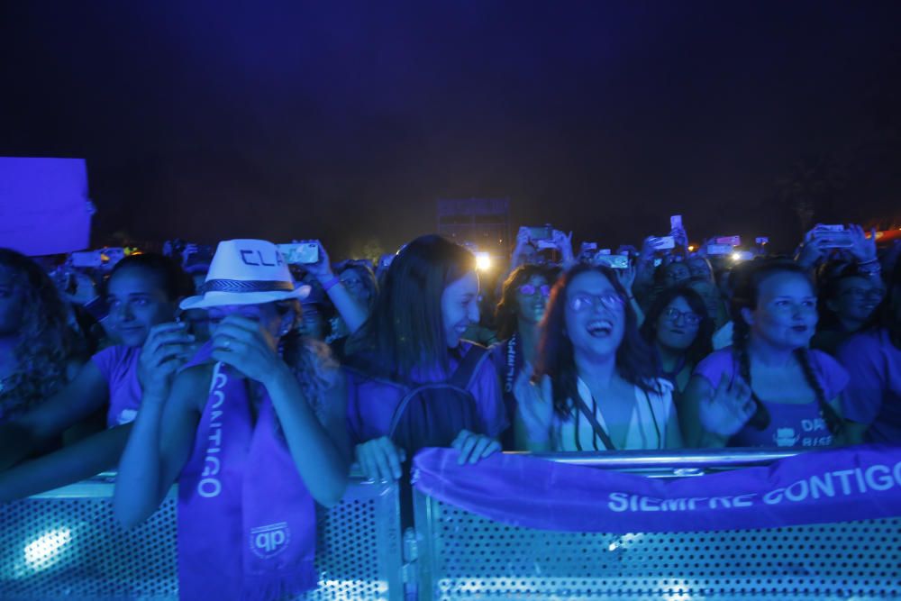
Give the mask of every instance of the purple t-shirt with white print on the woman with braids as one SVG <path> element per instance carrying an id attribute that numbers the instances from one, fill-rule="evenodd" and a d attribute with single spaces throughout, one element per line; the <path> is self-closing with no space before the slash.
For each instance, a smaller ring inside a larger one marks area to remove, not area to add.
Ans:
<path id="1" fill-rule="evenodd" d="M 838 361 L 822 351 L 809 351 L 815 378 L 831 402 L 848 385 L 848 373 Z M 738 360 L 732 347 L 714 351 L 697 364 L 695 375 L 717 387 L 725 374 L 732 382 L 738 373 Z M 820 414 L 820 405 L 809 403 L 771 403 L 761 398 L 769 411 L 769 426 L 763 430 L 747 424 L 729 440 L 731 447 L 822 447 L 833 443 L 833 435 Z"/>

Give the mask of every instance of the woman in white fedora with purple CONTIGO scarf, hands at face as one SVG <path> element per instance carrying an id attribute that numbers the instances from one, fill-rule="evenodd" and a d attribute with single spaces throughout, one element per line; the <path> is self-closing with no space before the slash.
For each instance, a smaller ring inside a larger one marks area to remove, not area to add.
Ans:
<path id="1" fill-rule="evenodd" d="M 308 292 L 274 244 L 232 240 L 220 242 L 203 295 L 181 304 L 208 311 L 213 337 L 168 398 L 144 398 L 114 511 L 138 524 L 177 480 L 183 599 L 280 598 L 316 584 L 315 502 L 343 495 L 350 446 L 337 365 L 296 336 Z"/>

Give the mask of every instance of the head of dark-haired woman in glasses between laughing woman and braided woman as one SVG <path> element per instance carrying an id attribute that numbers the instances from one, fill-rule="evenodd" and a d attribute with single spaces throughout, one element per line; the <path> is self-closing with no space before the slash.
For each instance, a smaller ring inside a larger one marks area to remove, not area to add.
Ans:
<path id="1" fill-rule="evenodd" d="M 689 287 L 664 290 L 648 309 L 641 332 L 657 354 L 660 378 L 673 385 L 678 405 L 692 369 L 713 351 L 714 320 L 704 299 Z"/>

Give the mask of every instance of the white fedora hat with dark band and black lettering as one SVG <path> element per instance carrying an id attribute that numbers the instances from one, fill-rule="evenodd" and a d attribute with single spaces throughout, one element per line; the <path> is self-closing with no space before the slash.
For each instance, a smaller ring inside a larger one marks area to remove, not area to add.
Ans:
<path id="1" fill-rule="evenodd" d="M 259 305 L 288 298 L 305 298 L 309 286 L 296 286 L 278 247 L 265 240 L 219 242 L 200 296 L 189 296 L 179 307 L 206 309 L 222 305 Z"/>

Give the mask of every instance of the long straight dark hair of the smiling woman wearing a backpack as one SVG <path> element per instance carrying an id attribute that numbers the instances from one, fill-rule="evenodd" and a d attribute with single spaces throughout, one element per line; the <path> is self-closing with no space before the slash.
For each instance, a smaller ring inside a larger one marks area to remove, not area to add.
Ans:
<path id="1" fill-rule="evenodd" d="M 475 255 L 442 236 L 407 244 L 391 262 L 369 319 L 348 342 L 351 366 L 401 382 L 409 381 L 414 369 L 447 373 L 441 294 L 475 270 Z"/>

